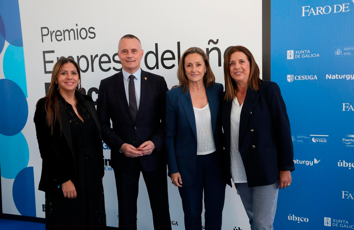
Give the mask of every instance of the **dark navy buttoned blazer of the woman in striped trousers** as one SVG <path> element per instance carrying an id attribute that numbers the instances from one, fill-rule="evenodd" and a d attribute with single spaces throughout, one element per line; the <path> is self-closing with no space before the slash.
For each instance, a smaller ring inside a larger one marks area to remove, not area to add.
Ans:
<path id="1" fill-rule="evenodd" d="M 232 103 L 232 100 L 224 100 L 222 108 L 225 167 L 228 169 L 233 141 L 230 140 Z M 279 170 L 295 169 L 289 118 L 275 82 L 263 81 L 258 91 L 247 89 L 240 115 L 239 151 L 249 187 L 274 184 Z"/>

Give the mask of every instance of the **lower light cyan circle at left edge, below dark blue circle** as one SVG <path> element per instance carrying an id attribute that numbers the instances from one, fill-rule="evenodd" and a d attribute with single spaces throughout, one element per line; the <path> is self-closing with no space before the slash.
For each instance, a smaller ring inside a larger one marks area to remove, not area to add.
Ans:
<path id="1" fill-rule="evenodd" d="M 0 134 L 0 165 L 2 177 L 14 179 L 19 171 L 27 167 L 28 160 L 28 144 L 21 132 L 15 136 L 4 136 Z"/>

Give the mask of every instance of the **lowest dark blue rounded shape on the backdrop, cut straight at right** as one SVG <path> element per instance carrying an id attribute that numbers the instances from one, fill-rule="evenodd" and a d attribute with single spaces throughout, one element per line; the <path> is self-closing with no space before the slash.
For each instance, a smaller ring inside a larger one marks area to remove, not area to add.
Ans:
<path id="1" fill-rule="evenodd" d="M 13 181 L 12 197 L 18 212 L 27 217 L 36 216 L 33 167 L 22 169 Z"/>

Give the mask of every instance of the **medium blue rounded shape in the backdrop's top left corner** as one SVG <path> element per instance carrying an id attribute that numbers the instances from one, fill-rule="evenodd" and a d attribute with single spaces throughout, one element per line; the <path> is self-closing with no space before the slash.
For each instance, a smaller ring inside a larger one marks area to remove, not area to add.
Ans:
<path id="1" fill-rule="evenodd" d="M 0 0 L 0 15 L 5 24 L 6 41 L 11 45 L 23 46 L 18 0 Z"/>

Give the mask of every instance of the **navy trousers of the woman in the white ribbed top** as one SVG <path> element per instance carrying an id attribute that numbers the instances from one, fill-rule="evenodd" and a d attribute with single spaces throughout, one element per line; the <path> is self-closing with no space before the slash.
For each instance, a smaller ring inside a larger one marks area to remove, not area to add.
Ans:
<path id="1" fill-rule="evenodd" d="M 185 230 L 202 230 L 203 191 L 205 229 L 221 230 L 226 184 L 216 154 L 217 152 L 198 155 L 193 184 L 178 187 L 182 198 Z"/>

